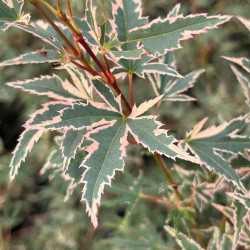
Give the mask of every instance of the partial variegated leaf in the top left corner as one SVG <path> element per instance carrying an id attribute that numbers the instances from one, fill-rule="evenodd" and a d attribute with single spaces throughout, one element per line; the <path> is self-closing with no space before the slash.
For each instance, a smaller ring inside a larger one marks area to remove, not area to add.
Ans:
<path id="1" fill-rule="evenodd" d="M 23 14 L 23 0 L 3 0 L 0 2 L 0 30 L 7 30 L 14 23 L 28 23 L 29 14 Z"/>

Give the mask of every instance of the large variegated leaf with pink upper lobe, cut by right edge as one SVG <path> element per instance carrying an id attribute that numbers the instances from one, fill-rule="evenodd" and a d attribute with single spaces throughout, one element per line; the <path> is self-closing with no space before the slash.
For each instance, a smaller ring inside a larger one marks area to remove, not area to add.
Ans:
<path id="1" fill-rule="evenodd" d="M 239 176 L 220 156 L 219 152 L 230 152 L 237 155 L 250 148 L 250 140 L 247 136 L 236 135 L 246 125 L 246 119 L 247 116 L 238 117 L 218 127 L 213 126 L 200 132 L 206 121 L 204 119 L 187 134 L 185 140 L 188 148 L 205 163 L 209 170 L 213 169 L 217 174 L 224 176 L 243 192 L 245 192 L 245 188 L 240 182 Z"/>

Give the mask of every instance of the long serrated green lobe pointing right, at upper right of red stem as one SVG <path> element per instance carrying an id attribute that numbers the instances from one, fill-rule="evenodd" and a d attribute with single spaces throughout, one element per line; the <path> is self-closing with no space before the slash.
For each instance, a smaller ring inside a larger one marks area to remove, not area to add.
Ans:
<path id="1" fill-rule="evenodd" d="M 112 46 L 121 46 L 124 43 L 141 42 L 144 48 L 153 55 L 163 55 L 167 51 L 181 48 L 180 41 L 192 38 L 193 34 L 207 32 L 208 29 L 217 28 L 228 22 L 231 16 L 207 16 L 196 14 L 184 17 L 178 15 L 158 18 L 143 27 L 129 32 L 129 40 L 118 42 Z"/>

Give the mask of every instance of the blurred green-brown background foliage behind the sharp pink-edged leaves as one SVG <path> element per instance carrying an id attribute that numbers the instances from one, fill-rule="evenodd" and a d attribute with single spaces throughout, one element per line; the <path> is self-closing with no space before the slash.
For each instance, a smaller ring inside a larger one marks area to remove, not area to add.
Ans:
<path id="1" fill-rule="evenodd" d="M 85 1 L 71 2 L 75 15 L 82 17 Z M 99 0 L 95 2 L 99 4 Z M 249 18 L 248 0 L 178 2 L 182 4 L 184 14 L 220 13 Z M 176 3 L 174 0 L 143 0 L 144 15 L 149 16 L 150 20 L 165 17 Z M 32 11 L 34 19 L 39 18 L 29 4 L 25 7 Z M 101 14 L 98 18 L 102 22 Z M 250 57 L 249 41 L 249 32 L 234 18 L 219 29 L 182 42 L 183 49 L 175 52 L 179 72 L 186 74 L 200 68 L 206 72 L 189 90 L 188 94 L 197 98 L 196 102 L 165 103 L 159 110 L 162 121 L 177 138 L 183 138 L 206 116 L 210 125 L 218 125 L 247 112 L 242 89 L 229 63 L 221 56 Z M 3 61 L 40 49 L 42 43 L 29 34 L 10 29 L 7 33 L 0 33 L 0 46 L 0 59 Z M 152 198 L 164 198 L 173 190 L 167 186 L 153 158 L 139 147 L 127 147 L 125 173 L 117 173 L 112 189 L 105 189 L 99 227 L 95 231 L 85 213 L 84 204 L 79 202 L 81 189 L 75 190 L 70 199 L 64 202 L 68 183 L 60 177 L 51 181 L 48 175 L 40 174 L 49 152 L 54 148 L 52 135 L 43 136 L 22 164 L 17 178 L 9 182 L 8 165 L 23 130 L 21 125 L 28 114 L 47 100 L 45 97 L 24 94 L 4 83 L 50 74 L 52 71 L 46 64 L 0 68 L 0 249 L 176 249 L 175 241 L 163 230 L 165 220 L 171 214 L 176 214 L 175 207 L 171 202 L 162 204 Z M 123 82 L 119 84 L 123 85 Z M 137 103 L 154 96 L 153 91 L 149 91 L 151 85 L 147 79 L 136 79 L 134 86 Z M 167 164 L 176 182 L 181 184 L 182 177 L 176 171 L 176 163 L 167 160 Z M 185 169 L 198 169 L 185 162 L 177 164 Z M 223 196 L 218 195 L 214 199 L 226 204 Z M 185 218 L 189 212 L 183 213 L 179 218 Z M 206 228 L 219 224 L 221 214 L 210 206 L 202 213 L 196 213 L 196 219 L 200 228 Z M 172 224 L 187 228 L 185 225 L 190 223 L 189 220 L 180 219 L 177 224 L 174 221 Z"/>

